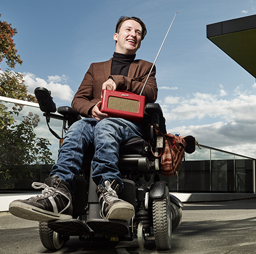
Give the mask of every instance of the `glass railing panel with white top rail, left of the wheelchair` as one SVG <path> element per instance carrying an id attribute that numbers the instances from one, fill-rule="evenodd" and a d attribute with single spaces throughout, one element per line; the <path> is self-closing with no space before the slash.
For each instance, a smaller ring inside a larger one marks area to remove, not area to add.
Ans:
<path id="1" fill-rule="evenodd" d="M 50 124 L 61 136 L 62 122 Z M 32 182 L 43 182 L 58 149 L 38 103 L 0 97 L 0 190 L 30 190 Z"/>

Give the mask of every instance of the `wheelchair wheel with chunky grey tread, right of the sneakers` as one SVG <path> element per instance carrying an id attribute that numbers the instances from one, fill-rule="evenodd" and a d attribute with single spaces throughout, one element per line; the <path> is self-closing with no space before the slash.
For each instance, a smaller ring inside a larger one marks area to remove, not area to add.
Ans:
<path id="1" fill-rule="evenodd" d="M 158 251 L 167 251 L 171 248 L 172 239 L 172 212 L 167 186 L 164 196 L 154 199 L 152 205 L 155 245 Z"/>

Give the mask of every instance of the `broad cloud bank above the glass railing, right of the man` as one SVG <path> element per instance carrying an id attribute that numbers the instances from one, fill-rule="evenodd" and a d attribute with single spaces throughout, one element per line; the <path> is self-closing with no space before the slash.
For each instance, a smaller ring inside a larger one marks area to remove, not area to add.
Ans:
<path id="1" fill-rule="evenodd" d="M 221 90 L 224 90 L 222 86 Z M 217 94 L 195 93 L 187 98 L 166 97 L 161 106 L 168 132 L 193 135 L 209 147 L 256 157 L 255 91 L 242 90 L 240 86 L 229 98 L 222 98 L 224 95 L 218 91 Z M 185 122 L 190 124 L 184 126 Z"/>

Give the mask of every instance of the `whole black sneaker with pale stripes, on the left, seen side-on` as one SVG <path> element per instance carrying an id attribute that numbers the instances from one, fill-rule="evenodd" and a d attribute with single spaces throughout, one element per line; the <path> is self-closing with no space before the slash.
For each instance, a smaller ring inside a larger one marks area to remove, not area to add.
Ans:
<path id="1" fill-rule="evenodd" d="M 56 219 L 72 219 L 71 189 L 67 182 L 55 175 L 46 178 L 44 184 L 34 182 L 32 187 L 44 189 L 42 194 L 10 203 L 11 214 L 28 220 L 48 222 Z"/>

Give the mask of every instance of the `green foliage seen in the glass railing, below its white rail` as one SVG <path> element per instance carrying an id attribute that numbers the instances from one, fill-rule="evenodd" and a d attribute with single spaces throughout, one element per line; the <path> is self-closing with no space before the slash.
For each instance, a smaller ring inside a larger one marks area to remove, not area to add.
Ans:
<path id="1" fill-rule="evenodd" d="M 39 115 L 30 112 L 21 123 L 0 128 L 0 180 L 5 182 L 1 188 L 28 182 L 37 173 L 38 165 L 54 163 L 49 140 L 38 138 L 34 132 L 39 122 Z"/>

